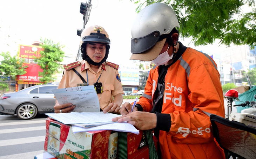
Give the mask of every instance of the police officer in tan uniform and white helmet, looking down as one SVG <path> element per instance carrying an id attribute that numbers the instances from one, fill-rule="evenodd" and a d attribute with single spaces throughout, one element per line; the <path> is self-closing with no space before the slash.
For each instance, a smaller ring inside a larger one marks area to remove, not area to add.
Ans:
<path id="1" fill-rule="evenodd" d="M 64 65 L 64 75 L 58 89 L 96 83 L 96 87 L 100 86 L 97 96 L 101 110 L 104 113 L 120 113 L 123 89 L 118 73 L 119 66 L 106 61 L 109 44 L 109 36 L 104 28 L 93 25 L 84 29 L 80 43 L 83 60 Z M 74 108 L 72 103 L 60 105 L 58 100 L 54 106 L 55 113 L 72 112 Z"/>

